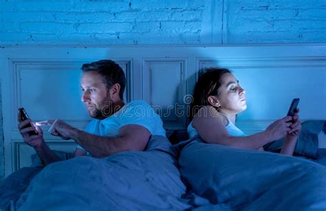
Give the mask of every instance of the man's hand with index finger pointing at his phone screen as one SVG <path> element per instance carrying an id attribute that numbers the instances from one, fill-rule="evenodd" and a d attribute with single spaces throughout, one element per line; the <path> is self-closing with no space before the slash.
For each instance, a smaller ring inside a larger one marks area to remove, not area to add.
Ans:
<path id="1" fill-rule="evenodd" d="M 47 120 L 47 121 L 41 121 L 37 122 L 36 125 L 51 125 L 49 132 L 52 136 L 59 136 L 60 138 L 64 140 L 69 140 L 72 138 L 71 132 L 76 129 L 72 127 L 71 125 L 68 125 L 64 121 L 56 119 L 53 120 Z"/>

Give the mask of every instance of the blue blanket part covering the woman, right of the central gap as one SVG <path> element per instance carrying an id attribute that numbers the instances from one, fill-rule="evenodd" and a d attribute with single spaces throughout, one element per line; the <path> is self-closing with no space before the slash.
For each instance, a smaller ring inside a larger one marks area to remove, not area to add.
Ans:
<path id="1" fill-rule="evenodd" d="M 186 185 L 212 205 L 232 210 L 326 209 L 326 168 L 309 160 L 195 138 L 180 151 L 179 164 Z"/>

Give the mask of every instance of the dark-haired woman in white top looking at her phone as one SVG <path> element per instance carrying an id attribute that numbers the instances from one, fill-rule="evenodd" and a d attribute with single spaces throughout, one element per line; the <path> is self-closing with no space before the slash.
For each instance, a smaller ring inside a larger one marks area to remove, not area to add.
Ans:
<path id="1" fill-rule="evenodd" d="M 265 131 L 246 136 L 235 126 L 237 114 L 247 108 L 245 93 L 228 69 L 208 69 L 195 86 L 193 121 L 187 129 L 190 138 L 199 135 L 207 143 L 263 151 L 263 145 L 285 137 L 280 153 L 292 156 L 301 131 L 298 109 L 294 116 L 285 116 Z"/>

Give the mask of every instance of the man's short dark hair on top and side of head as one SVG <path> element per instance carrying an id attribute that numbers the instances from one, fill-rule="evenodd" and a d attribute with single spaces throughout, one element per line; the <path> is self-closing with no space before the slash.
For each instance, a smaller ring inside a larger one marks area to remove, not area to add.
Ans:
<path id="1" fill-rule="evenodd" d="M 120 84 L 120 99 L 123 99 L 124 88 L 126 87 L 126 77 L 122 68 L 116 62 L 112 60 L 99 60 L 97 62 L 91 62 L 83 64 L 83 73 L 94 71 L 100 73 L 103 77 L 103 83 L 106 84 L 107 90 L 109 90 L 113 84 Z"/>

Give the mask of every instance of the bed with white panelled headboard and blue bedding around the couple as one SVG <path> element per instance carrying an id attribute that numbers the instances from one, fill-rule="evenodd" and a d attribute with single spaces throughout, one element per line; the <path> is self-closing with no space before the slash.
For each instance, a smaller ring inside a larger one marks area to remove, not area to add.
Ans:
<path id="1" fill-rule="evenodd" d="M 271 152 L 257 152 L 211 146 L 198 138 L 187 140 L 184 132 L 188 125 L 187 105 L 198 70 L 209 66 L 230 68 L 241 77 L 243 86 L 253 90 L 248 93 L 248 99 L 255 97 L 264 102 L 251 104 L 251 109 L 239 116 L 237 124 L 247 134 L 260 132 L 282 115 L 282 110 L 286 112 L 294 97 L 300 97 L 301 105 L 306 108 L 301 110 L 301 119 L 325 121 L 325 98 L 318 97 L 325 96 L 326 90 L 320 90 L 321 94 L 314 92 L 316 86 L 325 86 L 325 49 L 322 44 L 3 47 L 0 63 L 3 110 L 6 110 L 3 113 L 6 180 L 1 183 L 1 208 L 325 210 L 325 166 L 318 164 L 325 162 L 325 151 L 316 153 L 318 144 L 303 147 L 305 151 L 298 148 L 300 156 L 318 161 L 315 162 L 272 153 L 278 150 L 278 142 L 266 146 Z M 111 58 L 122 66 L 127 75 L 125 101 L 142 99 L 153 105 L 162 116 L 169 140 L 152 137 L 147 151 L 143 152 L 118 153 L 105 159 L 69 159 L 76 144 L 45 134 L 50 148 L 57 150 L 64 161 L 43 168 L 33 156 L 34 151 L 21 140 L 16 127 L 16 108 L 23 105 L 34 121 L 59 118 L 83 129 L 89 117 L 79 103 L 78 80 L 72 79 L 80 76 L 81 64 L 102 58 Z M 288 78 L 294 75 L 293 71 L 298 74 L 283 95 L 276 94 L 282 87 L 266 83 L 260 86 L 275 92 L 266 99 L 257 94 L 257 84 L 251 83 L 252 78 L 263 80 L 266 74 L 271 82 L 280 75 Z M 58 84 L 58 92 L 51 92 Z M 263 112 L 253 114 L 252 110 L 258 108 Z M 310 134 L 314 134 L 315 141 L 316 133 Z M 157 140 L 174 146 L 153 151 L 151 145 Z M 230 155 L 232 159 L 228 159 Z M 164 164 L 160 160 L 165 160 Z"/>

